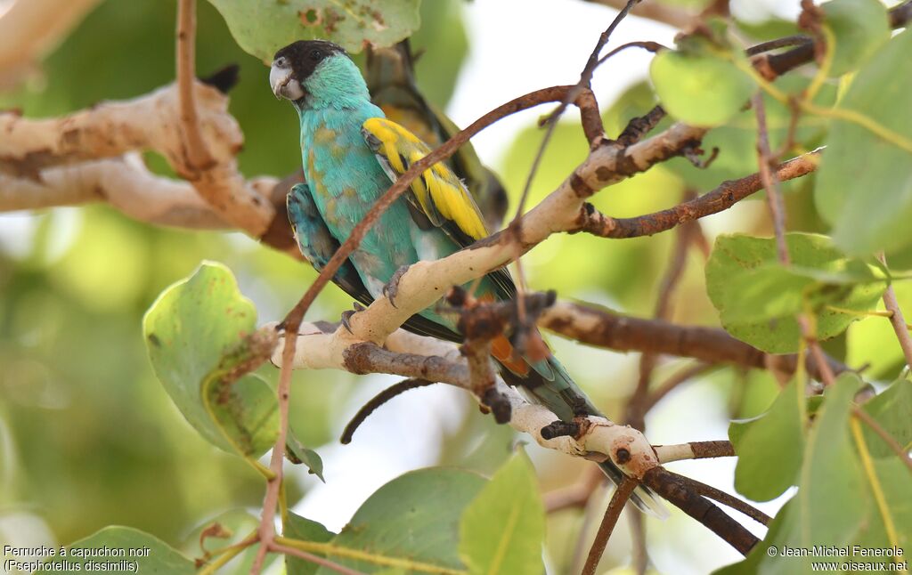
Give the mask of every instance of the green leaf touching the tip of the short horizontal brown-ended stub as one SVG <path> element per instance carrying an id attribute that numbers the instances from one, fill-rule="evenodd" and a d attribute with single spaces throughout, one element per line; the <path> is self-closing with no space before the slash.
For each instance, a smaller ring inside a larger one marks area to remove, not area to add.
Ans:
<path id="1" fill-rule="evenodd" d="M 731 422 L 729 439 L 738 455 L 735 489 L 744 497 L 768 501 L 795 484 L 804 457 L 804 422 L 799 401 L 804 398 L 799 397 L 793 380 L 765 414 L 748 421 Z"/>

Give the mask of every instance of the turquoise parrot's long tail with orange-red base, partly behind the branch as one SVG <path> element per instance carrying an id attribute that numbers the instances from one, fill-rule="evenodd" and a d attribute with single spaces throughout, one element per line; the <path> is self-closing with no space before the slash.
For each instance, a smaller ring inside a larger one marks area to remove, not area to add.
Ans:
<path id="1" fill-rule="evenodd" d="M 513 346 L 503 336 L 494 340 L 492 355 L 500 363 L 501 375 L 507 384 L 525 389 L 528 395 L 532 395 L 534 401 L 553 411 L 554 415 L 562 420 L 570 421 L 581 413 L 604 417 L 596 406 L 592 405 L 583 390 L 574 383 L 564 365 L 561 365 L 554 355 L 530 365 L 525 359 L 514 353 Z M 610 459 L 598 464 L 598 467 L 602 468 L 605 475 L 616 486 L 620 485 L 625 477 L 624 472 L 618 469 Z M 647 487 L 637 486 L 630 499 L 642 511 L 660 519 L 668 517 L 668 509 Z"/>

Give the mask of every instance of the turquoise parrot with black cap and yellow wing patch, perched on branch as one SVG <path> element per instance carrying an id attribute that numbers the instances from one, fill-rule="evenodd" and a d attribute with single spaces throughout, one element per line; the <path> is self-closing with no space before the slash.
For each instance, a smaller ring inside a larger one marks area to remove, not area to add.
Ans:
<path id="1" fill-rule="evenodd" d="M 289 192 L 288 216 L 301 252 L 320 270 L 392 182 L 430 148 L 371 102 L 360 70 L 331 42 L 285 46 L 275 53 L 269 82 L 275 96 L 291 101 L 300 118 L 307 183 Z M 438 163 L 383 213 L 334 282 L 369 304 L 386 295 L 401 268 L 445 258 L 487 235 L 472 194 L 448 166 Z M 503 268 L 488 273 L 475 289 L 482 301 L 510 300 L 515 292 Z M 455 317 L 431 306 L 404 327 L 461 342 L 456 324 Z M 581 412 L 601 416 L 554 355 L 530 362 L 503 335 L 492 342 L 492 355 L 505 382 L 523 388 L 559 418 L 570 421 Z M 615 484 L 624 477 L 610 460 L 599 466 Z M 632 500 L 638 508 L 664 514 L 648 488 L 637 487 Z"/>

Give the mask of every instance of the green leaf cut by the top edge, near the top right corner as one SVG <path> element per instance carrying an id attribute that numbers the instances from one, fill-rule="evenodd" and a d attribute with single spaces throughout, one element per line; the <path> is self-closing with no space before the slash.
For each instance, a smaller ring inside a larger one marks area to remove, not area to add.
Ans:
<path id="1" fill-rule="evenodd" d="M 830 76 L 860 67 L 890 37 L 886 6 L 877 0 L 833 0 L 820 7 L 835 38 Z"/>

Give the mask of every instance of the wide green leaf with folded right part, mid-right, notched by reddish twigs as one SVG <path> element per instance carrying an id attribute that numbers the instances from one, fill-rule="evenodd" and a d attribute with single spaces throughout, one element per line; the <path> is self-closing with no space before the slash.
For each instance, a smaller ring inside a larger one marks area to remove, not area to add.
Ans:
<path id="1" fill-rule="evenodd" d="M 873 309 L 885 281 L 873 269 L 846 258 L 829 238 L 786 234 L 792 266 L 776 257 L 775 240 L 721 235 L 706 266 L 706 287 L 730 334 L 771 354 L 795 352 L 801 330 L 795 314 L 807 306 L 816 317 L 817 337 L 841 334 L 860 316 L 834 308 Z"/>

